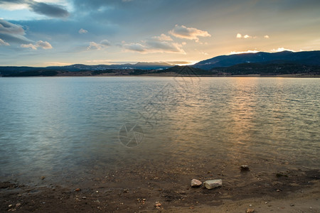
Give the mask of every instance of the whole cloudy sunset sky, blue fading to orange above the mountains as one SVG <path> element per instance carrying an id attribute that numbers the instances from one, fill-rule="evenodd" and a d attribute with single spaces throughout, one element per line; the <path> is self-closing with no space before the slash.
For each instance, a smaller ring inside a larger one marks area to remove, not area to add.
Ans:
<path id="1" fill-rule="evenodd" d="M 0 65 L 320 50 L 319 0 L 0 0 Z"/>

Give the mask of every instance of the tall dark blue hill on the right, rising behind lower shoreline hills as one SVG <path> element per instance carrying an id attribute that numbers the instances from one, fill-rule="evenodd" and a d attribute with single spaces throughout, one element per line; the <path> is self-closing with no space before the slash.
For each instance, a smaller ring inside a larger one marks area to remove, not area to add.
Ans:
<path id="1" fill-rule="evenodd" d="M 211 70 L 215 67 L 230 67 L 243 63 L 263 63 L 263 64 L 287 64 L 294 63 L 299 65 L 320 65 L 320 51 L 290 52 L 279 53 L 243 53 L 235 55 L 220 55 L 215 58 L 203 60 L 196 63 L 193 67 L 203 70 Z"/>

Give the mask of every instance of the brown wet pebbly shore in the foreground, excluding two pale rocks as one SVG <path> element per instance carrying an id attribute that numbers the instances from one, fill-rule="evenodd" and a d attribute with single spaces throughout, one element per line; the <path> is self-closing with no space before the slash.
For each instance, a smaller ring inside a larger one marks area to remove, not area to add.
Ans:
<path id="1" fill-rule="evenodd" d="M 205 170 L 198 177 L 143 171 L 113 170 L 78 185 L 1 182 L 0 212 L 320 212 L 320 170 L 238 170 L 235 180 Z M 223 187 L 193 188 L 192 178 L 222 179 Z"/>

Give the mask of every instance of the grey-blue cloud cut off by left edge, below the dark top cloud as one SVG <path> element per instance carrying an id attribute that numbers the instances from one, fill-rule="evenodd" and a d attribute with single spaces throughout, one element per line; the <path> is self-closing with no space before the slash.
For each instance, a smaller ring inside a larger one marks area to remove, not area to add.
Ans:
<path id="1" fill-rule="evenodd" d="M 10 43 L 32 43 L 33 41 L 26 38 L 25 34 L 21 26 L 0 19 L 0 38 L 2 40 Z"/>

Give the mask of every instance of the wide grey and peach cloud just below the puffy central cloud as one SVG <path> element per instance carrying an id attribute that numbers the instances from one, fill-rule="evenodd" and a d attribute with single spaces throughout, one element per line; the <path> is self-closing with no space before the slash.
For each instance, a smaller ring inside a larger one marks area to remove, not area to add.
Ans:
<path id="1" fill-rule="evenodd" d="M 170 36 L 161 34 L 152 38 L 142 40 L 140 43 L 124 43 L 122 47 L 139 53 L 182 53 L 186 52 L 182 49 L 183 44 L 175 43 L 170 40 Z"/>

